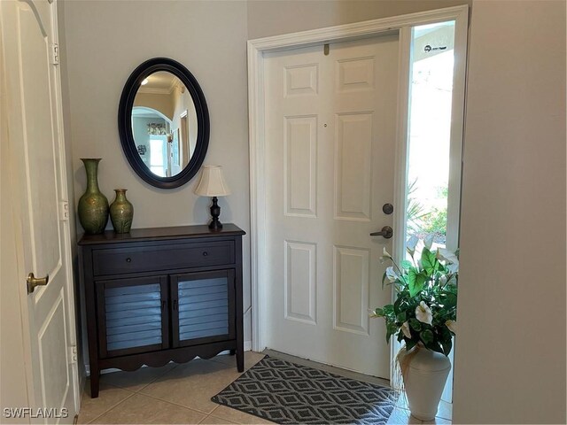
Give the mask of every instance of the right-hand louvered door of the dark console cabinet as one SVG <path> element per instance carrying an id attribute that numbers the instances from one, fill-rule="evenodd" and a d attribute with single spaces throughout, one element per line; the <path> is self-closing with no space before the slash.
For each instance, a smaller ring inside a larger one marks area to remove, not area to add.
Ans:
<path id="1" fill-rule="evenodd" d="M 174 274 L 170 282 L 174 347 L 236 337 L 234 270 Z"/>

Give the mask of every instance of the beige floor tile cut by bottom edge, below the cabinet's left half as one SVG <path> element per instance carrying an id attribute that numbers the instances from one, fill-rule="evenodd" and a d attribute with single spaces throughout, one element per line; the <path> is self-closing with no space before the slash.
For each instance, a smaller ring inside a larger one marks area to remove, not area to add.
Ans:
<path id="1" fill-rule="evenodd" d="M 198 423 L 203 413 L 165 401 L 135 394 L 97 418 L 93 423 Z"/>

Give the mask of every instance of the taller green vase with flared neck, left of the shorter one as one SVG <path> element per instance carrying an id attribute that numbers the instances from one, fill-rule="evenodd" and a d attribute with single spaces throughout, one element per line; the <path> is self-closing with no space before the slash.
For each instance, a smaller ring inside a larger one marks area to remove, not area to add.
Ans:
<path id="1" fill-rule="evenodd" d="M 81 158 L 87 172 L 87 190 L 79 199 L 79 221 L 85 233 L 97 235 L 108 223 L 108 199 L 98 189 L 98 163 L 101 158 Z"/>

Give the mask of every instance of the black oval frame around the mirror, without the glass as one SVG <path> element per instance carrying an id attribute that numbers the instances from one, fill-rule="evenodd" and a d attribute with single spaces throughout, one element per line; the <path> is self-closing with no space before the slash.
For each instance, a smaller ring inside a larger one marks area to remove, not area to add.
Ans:
<path id="1" fill-rule="evenodd" d="M 193 151 L 189 164 L 183 168 L 181 173 L 171 177 L 159 177 L 151 173 L 150 168 L 144 164 L 144 161 L 138 154 L 134 135 L 132 134 L 132 108 L 136 93 L 144 78 L 158 71 L 173 73 L 183 82 L 190 92 L 193 104 L 195 104 L 195 111 L 197 112 L 198 132 L 195 151 Z M 144 182 L 159 189 L 175 189 L 189 182 L 197 174 L 205 160 L 210 132 L 209 111 L 206 106 L 205 95 L 193 74 L 185 66 L 170 58 L 151 58 L 138 66 L 128 77 L 128 81 L 126 81 L 122 90 L 118 107 L 118 131 L 122 151 L 124 151 L 128 163 Z"/>

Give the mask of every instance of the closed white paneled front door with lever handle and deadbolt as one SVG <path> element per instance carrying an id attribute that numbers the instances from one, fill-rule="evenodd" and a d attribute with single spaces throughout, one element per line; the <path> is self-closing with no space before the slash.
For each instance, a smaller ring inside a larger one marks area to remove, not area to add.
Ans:
<path id="1" fill-rule="evenodd" d="M 392 226 L 398 35 L 264 60 L 268 348 L 390 377 L 379 257 Z M 326 54 L 327 53 L 327 54 Z"/>

